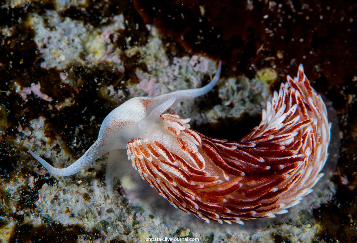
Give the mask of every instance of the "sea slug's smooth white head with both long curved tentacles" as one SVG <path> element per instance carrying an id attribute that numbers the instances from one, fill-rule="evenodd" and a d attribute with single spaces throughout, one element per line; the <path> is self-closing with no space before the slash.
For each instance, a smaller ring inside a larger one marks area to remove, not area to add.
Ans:
<path id="1" fill-rule="evenodd" d="M 103 120 L 97 140 L 76 162 L 66 168 L 55 168 L 44 159 L 29 150 L 29 153 L 39 161 L 51 174 L 70 176 L 84 169 L 87 165 L 116 149 L 126 149 L 127 143 L 133 138 L 159 138 L 165 141 L 166 132 L 158 126 L 160 115 L 172 105 L 183 100 L 193 99 L 209 92 L 217 83 L 221 73 L 221 62 L 212 81 L 197 89 L 184 89 L 163 94 L 155 98 L 135 97 L 127 100 L 112 110 Z M 166 140 L 170 144 L 170 140 Z M 113 152 L 119 153 L 118 151 Z M 110 158 L 113 157 L 109 155 Z M 111 173 L 107 169 L 106 180 L 110 180 Z M 111 178 L 113 179 L 113 178 Z M 111 189 L 111 182 L 107 183 Z M 109 191 L 111 193 L 111 190 Z"/>

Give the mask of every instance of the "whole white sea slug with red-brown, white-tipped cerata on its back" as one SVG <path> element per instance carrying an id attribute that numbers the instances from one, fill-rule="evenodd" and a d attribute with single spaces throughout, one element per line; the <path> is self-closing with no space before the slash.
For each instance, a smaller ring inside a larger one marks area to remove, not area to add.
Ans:
<path id="1" fill-rule="evenodd" d="M 207 137 L 190 129 L 190 118 L 164 114 L 172 105 L 206 94 L 210 83 L 155 98 L 127 100 L 104 119 L 98 139 L 72 165 L 58 169 L 29 151 L 50 173 L 73 175 L 109 152 L 106 183 L 125 151 L 142 179 L 171 205 L 203 221 L 219 223 L 286 213 L 323 176 L 331 123 L 321 96 L 300 64 L 262 112 L 262 121 L 237 141 Z M 118 157 L 119 156 L 119 157 Z"/>

